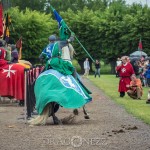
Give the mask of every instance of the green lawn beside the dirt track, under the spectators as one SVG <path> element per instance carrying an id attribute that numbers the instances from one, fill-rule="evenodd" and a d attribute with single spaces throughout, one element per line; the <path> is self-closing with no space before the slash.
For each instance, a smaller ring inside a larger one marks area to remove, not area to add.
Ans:
<path id="1" fill-rule="evenodd" d="M 146 104 L 147 92 L 149 88 L 143 88 L 144 94 L 142 96 L 142 100 L 133 100 L 127 94 L 124 98 L 119 97 L 119 78 L 116 78 L 115 75 L 101 75 L 100 78 L 95 78 L 93 75 L 89 76 L 89 79 L 97 87 L 103 90 L 112 100 L 124 107 L 127 112 L 133 114 L 135 117 L 150 125 L 150 104 Z"/>

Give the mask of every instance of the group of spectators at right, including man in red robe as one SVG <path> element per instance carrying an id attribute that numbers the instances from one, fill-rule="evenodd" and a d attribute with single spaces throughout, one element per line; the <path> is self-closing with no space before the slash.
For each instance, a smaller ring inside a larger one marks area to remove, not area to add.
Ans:
<path id="1" fill-rule="evenodd" d="M 116 77 L 120 78 L 120 97 L 127 93 L 133 99 L 141 99 L 143 87 L 150 87 L 150 61 L 130 59 L 128 56 L 116 61 Z"/>

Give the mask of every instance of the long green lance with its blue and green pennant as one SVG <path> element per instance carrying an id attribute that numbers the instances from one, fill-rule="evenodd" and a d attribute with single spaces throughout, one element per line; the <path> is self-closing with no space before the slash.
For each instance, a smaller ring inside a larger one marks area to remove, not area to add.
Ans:
<path id="1" fill-rule="evenodd" d="M 52 7 L 52 5 L 50 5 L 50 7 L 51 7 L 51 9 L 52 9 L 52 11 L 54 13 L 55 19 L 58 22 L 60 39 L 61 40 L 67 40 L 70 37 L 70 35 L 73 35 L 75 37 L 75 39 L 77 40 L 77 42 L 80 44 L 80 46 L 87 53 L 87 55 L 91 58 L 91 60 L 93 62 L 95 62 L 94 59 L 91 57 L 91 55 L 88 53 L 88 51 L 85 49 L 85 47 L 78 40 L 78 38 L 76 37 L 76 35 L 74 34 L 74 32 L 71 31 L 71 29 L 67 26 L 67 24 L 62 19 L 62 17 L 58 14 L 58 12 Z"/>

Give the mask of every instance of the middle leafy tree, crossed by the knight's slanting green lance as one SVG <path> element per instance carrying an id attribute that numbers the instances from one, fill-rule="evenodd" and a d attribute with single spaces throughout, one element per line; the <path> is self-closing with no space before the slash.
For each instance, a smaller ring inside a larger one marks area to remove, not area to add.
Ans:
<path id="1" fill-rule="evenodd" d="M 63 12 L 61 14 L 62 17 L 65 18 L 65 21 L 68 22 L 68 26 L 71 27 L 71 30 L 75 32 L 76 37 L 85 47 L 85 49 L 93 58 L 97 58 L 97 53 L 100 53 L 100 41 L 98 38 L 99 35 L 96 34 L 98 31 L 97 21 L 99 19 L 95 13 L 85 7 L 83 11 L 78 11 L 76 14 L 70 9 L 67 11 L 67 13 Z M 88 57 L 86 52 L 77 41 L 75 41 L 73 44 L 76 50 L 76 59 L 83 60 L 85 57 Z"/>

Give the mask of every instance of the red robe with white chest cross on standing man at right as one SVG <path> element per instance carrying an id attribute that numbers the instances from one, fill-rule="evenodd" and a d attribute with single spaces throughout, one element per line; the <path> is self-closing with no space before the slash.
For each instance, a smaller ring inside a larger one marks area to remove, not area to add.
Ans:
<path id="1" fill-rule="evenodd" d="M 131 75 L 135 74 L 133 67 L 130 63 L 122 64 L 121 66 L 117 66 L 116 70 L 119 72 L 120 81 L 119 81 L 119 92 L 126 92 L 128 88 L 127 85 L 130 85 Z"/>

